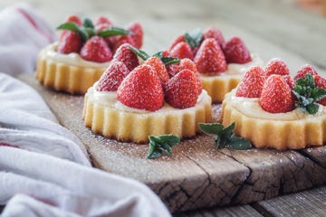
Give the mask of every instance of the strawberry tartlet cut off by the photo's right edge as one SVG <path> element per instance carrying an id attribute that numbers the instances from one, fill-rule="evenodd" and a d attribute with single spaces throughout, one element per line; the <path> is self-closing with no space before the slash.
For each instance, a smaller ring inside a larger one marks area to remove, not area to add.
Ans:
<path id="1" fill-rule="evenodd" d="M 304 78 L 305 74 L 311 74 L 311 72 L 304 72 L 300 77 Z M 292 93 L 299 90 L 297 89 L 298 81 L 293 87 L 291 80 L 283 79 L 289 76 L 272 74 L 266 77 L 259 96 L 244 97 L 244 91 L 240 90 L 244 88 L 242 83 L 226 94 L 220 117 L 223 125 L 227 126 L 235 122 L 235 134 L 248 138 L 255 147 L 286 150 L 322 146 L 326 141 L 325 101 L 321 99 L 321 101 L 313 102 L 318 106 L 318 110 L 310 113 L 309 109 L 298 105 L 299 98 Z M 318 88 L 326 89 L 326 80 L 317 74 L 313 75 L 313 78 Z M 274 85 L 278 90 L 272 90 L 272 83 L 276 83 L 274 80 L 282 83 L 282 86 Z M 288 87 L 283 88 L 284 85 Z M 255 88 L 245 90 L 251 91 L 252 89 Z M 271 93 L 271 91 L 276 92 Z M 287 97 L 285 97 L 285 91 L 287 91 Z"/>

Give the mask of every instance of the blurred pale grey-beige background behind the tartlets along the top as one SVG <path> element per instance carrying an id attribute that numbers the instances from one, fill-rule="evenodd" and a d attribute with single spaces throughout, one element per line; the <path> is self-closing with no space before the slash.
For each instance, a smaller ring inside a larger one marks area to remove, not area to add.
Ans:
<path id="1" fill-rule="evenodd" d="M 18 1 L 0 0 L 0 8 Z M 326 70 L 326 0 L 26 0 L 54 27 L 70 14 L 106 15 L 117 26 L 137 20 L 147 52 L 168 49 L 180 33 L 215 25 L 238 35 L 264 60 L 284 58 L 290 69 L 311 63 Z M 264 44 L 264 45 L 260 45 Z M 289 55 L 291 54 L 291 55 Z M 298 63 L 299 62 L 299 63 Z"/>

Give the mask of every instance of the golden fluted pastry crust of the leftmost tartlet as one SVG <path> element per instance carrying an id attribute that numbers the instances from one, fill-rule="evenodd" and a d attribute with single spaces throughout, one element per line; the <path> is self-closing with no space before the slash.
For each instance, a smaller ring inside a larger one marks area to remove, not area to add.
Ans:
<path id="1" fill-rule="evenodd" d="M 85 66 L 78 62 L 67 63 L 60 59 L 55 60 L 44 55 L 45 49 L 37 58 L 36 79 L 47 88 L 72 94 L 84 94 L 95 81 L 101 78 L 101 74 L 106 69 L 106 67 Z"/>

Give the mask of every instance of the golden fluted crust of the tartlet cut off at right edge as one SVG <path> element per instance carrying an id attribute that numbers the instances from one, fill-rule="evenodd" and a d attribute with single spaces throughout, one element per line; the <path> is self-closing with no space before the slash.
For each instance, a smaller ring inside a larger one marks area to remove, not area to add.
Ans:
<path id="1" fill-rule="evenodd" d="M 228 93 L 222 104 L 221 122 L 235 122 L 235 134 L 248 138 L 255 147 L 278 150 L 322 146 L 326 141 L 326 115 L 303 116 L 295 119 L 257 118 L 244 114 L 232 103 L 235 91 Z M 286 113 L 284 113 L 286 114 Z"/>

